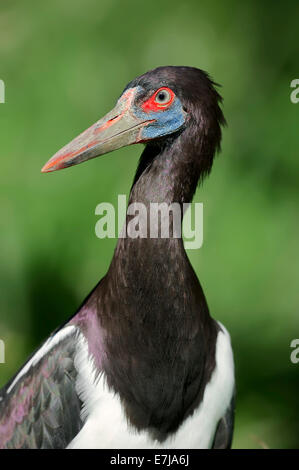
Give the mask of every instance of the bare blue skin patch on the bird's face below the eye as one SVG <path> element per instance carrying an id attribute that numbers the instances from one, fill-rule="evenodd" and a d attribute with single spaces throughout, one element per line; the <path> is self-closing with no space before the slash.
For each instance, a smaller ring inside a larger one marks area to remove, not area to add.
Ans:
<path id="1" fill-rule="evenodd" d="M 141 89 L 141 87 L 138 87 Z M 138 90 L 139 91 L 139 90 Z M 133 106 L 133 112 L 144 121 L 154 120 L 142 129 L 142 140 L 156 139 L 164 135 L 173 134 L 179 130 L 186 121 L 186 112 L 177 96 L 175 96 L 169 108 L 158 111 L 144 112 L 139 106 Z"/>

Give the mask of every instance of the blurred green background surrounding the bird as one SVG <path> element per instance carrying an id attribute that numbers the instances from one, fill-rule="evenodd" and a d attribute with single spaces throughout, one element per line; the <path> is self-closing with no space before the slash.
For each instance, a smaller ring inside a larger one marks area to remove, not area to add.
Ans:
<path id="1" fill-rule="evenodd" d="M 221 83 L 222 153 L 198 189 L 204 244 L 189 257 L 236 362 L 234 447 L 299 447 L 297 1 L 0 3 L 0 385 L 105 274 L 98 203 L 128 194 L 142 147 L 41 174 L 132 78 L 192 65 Z"/>

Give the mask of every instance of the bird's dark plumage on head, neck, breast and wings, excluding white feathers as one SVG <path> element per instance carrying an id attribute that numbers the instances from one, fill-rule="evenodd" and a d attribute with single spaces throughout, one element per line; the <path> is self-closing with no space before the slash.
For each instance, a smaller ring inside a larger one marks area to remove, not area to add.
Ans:
<path id="1" fill-rule="evenodd" d="M 160 67 L 130 82 L 124 93 L 136 89 L 138 107 L 161 87 L 179 98 L 186 119 L 175 132 L 146 142 L 129 204 L 147 208 L 153 202 L 182 206 L 192 200 L 212 168 L 225 123 L 215 84 L 195 68 Z M 127 215 L 126 223 L 131 219 Z M 221 326 L 209 314 L 182 239 L 150 238 L 147 230 L 145 238 L 119 239 L 108 273 L 67 325 L 86 338 L 98 374 L 120 397 L 130 425 L 163 443 L 203 400 L 216 367 Z M 69 335 L 11 393 L 6 393 L 9 384 L 1 392 L 0 447 L 1 426 L 13 421 L 22 387 L 30 390 L 27 414 L 13 423 L 4 447 L 66 447 L 82 429 L 75 344 L 76 335 Z M 214 447 L 230 446 L 232 428 L 233 401 L 219 421 Z"/>

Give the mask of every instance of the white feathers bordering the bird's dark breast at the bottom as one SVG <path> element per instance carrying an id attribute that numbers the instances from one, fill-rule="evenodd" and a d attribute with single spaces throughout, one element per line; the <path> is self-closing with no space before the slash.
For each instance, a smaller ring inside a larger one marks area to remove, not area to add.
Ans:
<path id="1" fill-rule="evenodd" d="M 227 330 L 222 326 L 216 343 L 216 367 L 203 400 L 179 430 L 163 443 L 146 431 L 138 432 L 127 421 L 120 398 L 108 389 L 104 375 L 96 378 L 88 345 L 80 335 L 75 366 L 77 392 L 83 401 L 81 431 L 68 448 L 107 449 L 202 449 L 211 447 L 219 420 L 225 415 L 234 391 L 234 362 Z"/>

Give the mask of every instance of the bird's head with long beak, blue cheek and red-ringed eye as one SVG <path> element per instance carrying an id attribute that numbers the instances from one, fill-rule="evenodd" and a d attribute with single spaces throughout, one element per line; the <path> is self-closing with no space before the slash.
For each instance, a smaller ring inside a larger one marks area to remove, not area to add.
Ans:
<path id="1" fill-rule="evenodd" d="M 224 118 L 220 96 L 208 75 L 192 67 L 159 67 L 130 82 L 116 106 L 57 152 L 42 168 L 67 168 L 137 143 L 162 145 L 193 130 L 192 139 L 211 140 L 212 156 Z"/>

